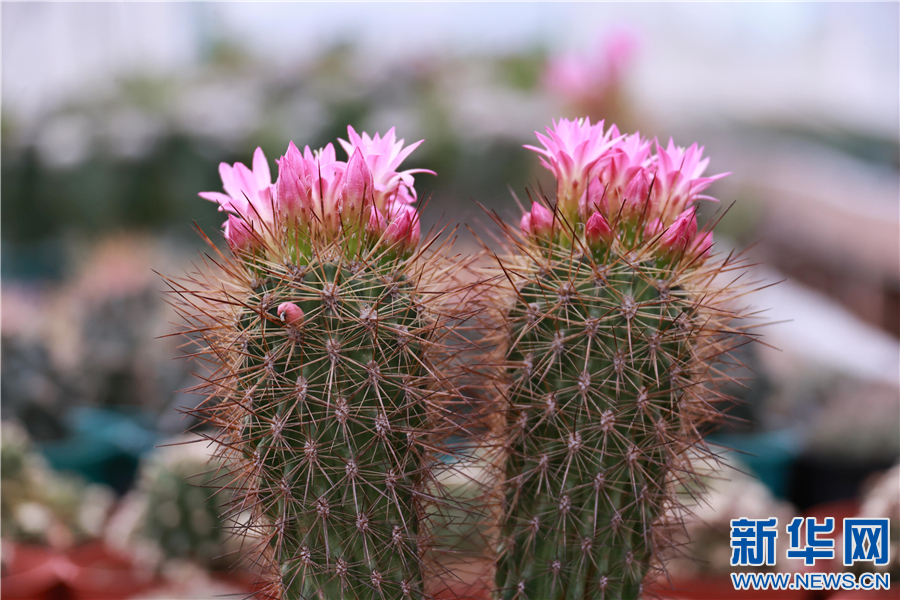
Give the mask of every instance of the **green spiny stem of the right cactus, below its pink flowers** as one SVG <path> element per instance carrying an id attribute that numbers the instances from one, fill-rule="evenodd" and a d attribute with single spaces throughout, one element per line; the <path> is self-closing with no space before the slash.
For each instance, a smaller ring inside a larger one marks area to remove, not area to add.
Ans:
<path id="1" fill-rule="evenodd" d="M 510 315 L 498 583 L 504 598 L 637 598 L 681 450 L 692 306 L 633 258 L 542 258 Z"/>

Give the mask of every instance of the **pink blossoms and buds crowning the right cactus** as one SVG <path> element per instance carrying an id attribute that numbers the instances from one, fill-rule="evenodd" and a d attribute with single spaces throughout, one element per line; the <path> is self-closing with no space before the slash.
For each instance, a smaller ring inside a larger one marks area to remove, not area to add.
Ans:
<path id="1" fill-rule="evenodd" d="M 709 158 L 703 148 L 666 147 L 640 133 L 621 135 L 601 121 L 560 119 L 535 132 L 542 148 L 525 146 L 541 155 L 541 164 L 556 176 L 556 214 L 535 203 L 522 217 L 522 232 L 535 239 L 560 231 L 555 219 L 573 231 L 584 225 L 587 246 L 608 247 L 617 237 L 627 241 L 658 241 L 663 254 L 703 254 L 712 235 L 697 235 L 696 202 L 713 200 L 701 195 L 728 173 L 704 177 Z M 655 150 L 655 152 L 654 152 Z"/>

